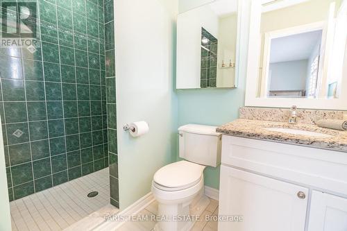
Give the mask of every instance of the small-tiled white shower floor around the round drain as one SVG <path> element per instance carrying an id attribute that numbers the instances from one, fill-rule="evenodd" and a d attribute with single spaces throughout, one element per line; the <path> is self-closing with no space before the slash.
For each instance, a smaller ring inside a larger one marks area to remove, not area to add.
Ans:
<path id="1" fill-rule="evenodd" d="M 10 203 L 12 230 L 64 230 L 110 203 L 108 168 Z M 99 195 L 88 198 L 91 191 Z"/>

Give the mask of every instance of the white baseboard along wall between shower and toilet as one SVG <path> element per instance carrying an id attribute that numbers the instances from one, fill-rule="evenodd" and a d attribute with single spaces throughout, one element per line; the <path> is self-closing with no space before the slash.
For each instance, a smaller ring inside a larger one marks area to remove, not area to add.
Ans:
<path id="1" fill-rule="evenodd" d="M 149 194 L 146 194 L 142 198 L 139 198 L 139 200 L 135 201 L 133 205 L 130 205 L 123 211 L 115 214 L 115 217 L 117 217 L 119 221 L 104 221 L 97 228 L 94 228 L 93 231 L 117 230 L 117 228 L 121 227 L 121 225 L 124 225 L 124 223 L 126 223 L 126 221 L 121 221 L 121 219 L 128 219 L 130 216 L 139 213 L 140 211 L 142 211 L 142 209 L 150 205 L 154 200 L 155 198 L 151 192 Z"/>

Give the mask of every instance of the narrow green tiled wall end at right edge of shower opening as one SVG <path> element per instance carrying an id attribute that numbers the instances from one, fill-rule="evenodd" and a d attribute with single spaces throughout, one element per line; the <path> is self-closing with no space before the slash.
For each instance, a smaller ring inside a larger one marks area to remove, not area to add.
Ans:
<path id="1" fill-rule="evenodd" d="M 119 207 L 117 106 L 115 78 L 115 20 L 113 0 L 105 0 L 105 74 L 108 107 L 108 157 L 110 160 L 110 202 Z"/>

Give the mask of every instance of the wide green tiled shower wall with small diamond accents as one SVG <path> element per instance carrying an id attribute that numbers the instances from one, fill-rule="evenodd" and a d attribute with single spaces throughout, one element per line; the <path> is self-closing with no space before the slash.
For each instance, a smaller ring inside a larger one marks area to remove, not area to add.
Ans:
<path id="1" fill-rule="evenodd" d="M 109 130 L 115 130 L 115 104 L 106 103 L 106 83 L 115 80 L 114 64 L 105 69 L 105 60 L 115 57 L 109 33 L 105 51 L 104 10 L 110 12 L 110 3 L 104 8 L 103 0 L 38 0 L 37 5 L 37 51 L 0 49 L 10 200 L 108 166 L 108 108 Z M 106 74 L 113 78 L 106 80 Z M 108 85 L 107 92 L 115 91 Z M 110 148 L 117 153 L 115 144 Z"/>

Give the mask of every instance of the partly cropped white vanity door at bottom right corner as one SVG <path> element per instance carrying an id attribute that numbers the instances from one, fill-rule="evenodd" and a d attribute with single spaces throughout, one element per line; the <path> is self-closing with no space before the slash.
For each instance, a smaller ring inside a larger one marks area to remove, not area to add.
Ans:
<path id="1" fill-rule="evenodd" d="M 309 231 L 346 231 L 347 199 L 312 192 Z"/>

